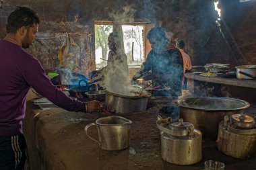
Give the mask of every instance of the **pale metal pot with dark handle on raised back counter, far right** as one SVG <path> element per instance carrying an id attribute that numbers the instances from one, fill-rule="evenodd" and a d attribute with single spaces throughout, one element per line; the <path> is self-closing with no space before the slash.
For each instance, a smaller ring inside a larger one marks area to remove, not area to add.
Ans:
<path id="1" fill-rule="evenodd" d="M 255 79 L 256 77 L 256 65 L 242 65 L 236 67 L 237 79 Z"/>

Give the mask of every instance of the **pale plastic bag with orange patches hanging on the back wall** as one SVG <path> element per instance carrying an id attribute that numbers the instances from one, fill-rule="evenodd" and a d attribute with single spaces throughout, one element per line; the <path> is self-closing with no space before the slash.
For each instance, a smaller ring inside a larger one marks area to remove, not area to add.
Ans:
<path id="1" fill-rule="evenodd" d="M 61 67 L 74 68 L 80 66 L 80 48 L 69 34 L 67 34 L 65 42 L 59 50 L 58 61 Z"/>

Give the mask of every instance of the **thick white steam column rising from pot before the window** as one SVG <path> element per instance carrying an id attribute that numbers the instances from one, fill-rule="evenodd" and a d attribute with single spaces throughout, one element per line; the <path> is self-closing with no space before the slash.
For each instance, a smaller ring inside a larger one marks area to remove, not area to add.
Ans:
<path id="1" fill-rule="evenodd" d="M 129 79 L 127 56 L 125 55 L 123 45 L 122 25 L 126 22 L 134 22 L 134 13 L 135 10 L 131 6 L 125 6 L 116 13 L 109 13 L 110 17 L 112 17 L 115 22 L 113 31 L 117 35 L 117 37 L 115 37 L 115 44 L 117 46 L 116 54 L 121 58 L 121 62 L 119 60 L 110 60 L 108 62 L 108 66 L 104 72 L 104 84 L 108 91 L 119 95 L 134 96 L 146 93 L 145 90 L 133 86 L 131 79 Z M 115 53 L 113 51 L 112 53 Z"/>

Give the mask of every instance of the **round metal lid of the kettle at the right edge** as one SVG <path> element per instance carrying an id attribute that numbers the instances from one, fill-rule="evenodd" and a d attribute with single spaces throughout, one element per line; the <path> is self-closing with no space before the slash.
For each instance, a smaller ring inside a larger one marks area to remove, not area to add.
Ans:
<path id="1" fill-rule="evenodd" d="M 230 120 L 239 128 L 255 128 L 254 118 L 246 114 L 233 114 Z"/>

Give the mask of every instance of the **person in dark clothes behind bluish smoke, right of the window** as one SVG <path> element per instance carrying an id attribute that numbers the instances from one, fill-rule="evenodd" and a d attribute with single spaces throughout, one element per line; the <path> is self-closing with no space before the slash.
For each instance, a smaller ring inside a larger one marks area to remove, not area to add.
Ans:
<path id="1" fill-rule="evenodd" d="M 148 32 L 152 50 L 146 62 L 143 62 L 141 71 L 135 74 L 133 80 L 143 77 L 152 80 L 152 86 L 161 87 L 153 91 L 153 96 L 169 96 L 178 99 L 181 95 L 183 79 L 183 59 L 177 48 L 168 48 L 169 40 L 164 28 L 155 27 Z M 151 73 L 150 73 L 151 71 Z"/>

